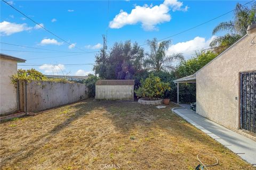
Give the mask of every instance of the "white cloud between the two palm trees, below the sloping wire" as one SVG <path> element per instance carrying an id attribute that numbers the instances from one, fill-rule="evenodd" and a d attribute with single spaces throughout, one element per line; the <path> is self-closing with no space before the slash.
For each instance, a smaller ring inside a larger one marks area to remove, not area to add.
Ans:
<path id="1" fill-rule="evenodd" d="M 188 57 L 195 54 L 197 50 L 208 48 L 214 38 L 215 36 L 212 36 L 210 39 L 206 40 L 203 37 L 195 37 L 192 40 L 171 45 L 167 49 L 166 54 L 183 53 L 185 57 Z"/>

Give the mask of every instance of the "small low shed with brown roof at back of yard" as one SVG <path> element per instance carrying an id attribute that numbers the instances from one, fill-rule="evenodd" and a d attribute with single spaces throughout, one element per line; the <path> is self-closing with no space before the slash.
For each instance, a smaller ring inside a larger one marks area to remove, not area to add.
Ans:
<path id="1" fill-rule="evenodd" d="M 134 100 L 134 80 L 98 80 L 95 100 Z"/>

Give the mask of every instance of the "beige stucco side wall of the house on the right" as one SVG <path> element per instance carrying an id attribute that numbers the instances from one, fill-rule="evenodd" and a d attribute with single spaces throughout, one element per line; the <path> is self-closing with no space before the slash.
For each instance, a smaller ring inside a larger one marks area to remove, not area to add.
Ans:
<path id="1" fill-rule="evenodd" d="M 244 37 L 196 74 L 196 112 L 229 129 L 239 128 L 239 72 L 256 70 L 254 36 Z"/>

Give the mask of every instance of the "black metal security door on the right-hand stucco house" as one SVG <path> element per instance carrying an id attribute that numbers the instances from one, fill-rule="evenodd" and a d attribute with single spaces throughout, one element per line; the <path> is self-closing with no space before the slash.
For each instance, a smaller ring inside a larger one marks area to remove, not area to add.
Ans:
<path id="1" fill-rule="evenodd" d="M 256 71 L 241 73 L 240 79 L 241 129 L 256 133 Z"/>

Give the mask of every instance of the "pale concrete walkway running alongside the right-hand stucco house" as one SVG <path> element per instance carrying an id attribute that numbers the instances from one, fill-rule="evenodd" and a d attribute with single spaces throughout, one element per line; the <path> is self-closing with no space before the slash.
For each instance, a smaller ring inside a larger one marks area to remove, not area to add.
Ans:
<path id="1" fill-rule="evenodd" d="M 214 140 L 220 142 L 246 162 L 256 166 L 256 141 L 207 120 L 207 118 L 186 107 L 173 108 L 172 111 Z"/>

